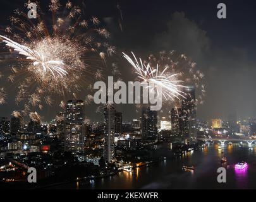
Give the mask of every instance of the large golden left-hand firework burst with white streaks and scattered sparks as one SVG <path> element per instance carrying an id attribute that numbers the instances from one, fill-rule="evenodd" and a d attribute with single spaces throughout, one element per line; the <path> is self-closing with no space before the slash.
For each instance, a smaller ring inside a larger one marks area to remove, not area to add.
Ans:
<path id="1" fill-rule="evenodd" d="M 44 105 L 64 107 L 66 97 L 76 96 L 92 80 L 102 78 L 102 61 L 106 63 L 106 57 L 116 52 L 99 18 L 85 18 L 83 8 L 71 1 L 63 6 L 51 0 L 46 14 L 37 3 L 36 19 L 28 18 L 27 9 L 16 9 L 9 19 L 11 26 L 2 30 L 0 41 L 2 54 L 11 52 L 8 59 L 15 64 L 7 79 L 18 88 L 15 101 L 24 106 L 23 115 Z M 1 90 L 0 104 L 5 99 Z"/>

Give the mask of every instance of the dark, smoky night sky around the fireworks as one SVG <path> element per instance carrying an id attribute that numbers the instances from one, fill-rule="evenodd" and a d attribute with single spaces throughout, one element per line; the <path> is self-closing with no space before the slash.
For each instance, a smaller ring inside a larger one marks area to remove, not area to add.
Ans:
<path id="1" fill-rule="evenodd" d="M 0 25 L 23 1 L 1 2 Z M 118 61 L 124 80 L 130 66 L 121 57 L 121 52 L 133 51 L 140 57 L 159 50 L 178 50 L 193 58 L 205 73 L 207 97 L 198 107 L 198 118 L 227 118 L 236 113 L 238 117 L 256 117 L 256 2 L 255 1 L 199 1 L 199 0 L 91 0 L 85 1 L 88 15 L 104 18 L 111 31 L 111 40 L 117 47 Z M 121 32 L 118 19 L 121 8 L 123 20 Z M 217 18 L 217 4 L 226 3 L 227 19 Z M 9 116 L 15 109 L 13 101 L 0 106 L 0 116 Z M 14 99 L 14 97 L 13 97 Z M 55 111 L 45 109 L 46 120 L 54 117 Z M 124 120 L 138 114 L 135 107 L 122 105 Z M 101 120 L 101 114 L 87 109 L 88 117 Z"/>

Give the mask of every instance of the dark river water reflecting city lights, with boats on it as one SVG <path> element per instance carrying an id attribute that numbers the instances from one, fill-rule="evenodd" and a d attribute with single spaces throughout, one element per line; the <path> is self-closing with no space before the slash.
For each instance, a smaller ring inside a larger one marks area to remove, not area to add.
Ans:
<path id="1" fill-rule="evenodd" d="M 228 162 L 221 164 L 221 150 L 210 145 L 199 151 L 192 151 L 183 157 L 166 157 L 166 160 L 140 167 L 132 172 L 118 174 L 90 183 L 73 182 L 51 187 L 51 189 L 256 189 L 256 146 L 239 143 L 225 145 L 224 155 Z M 235 163 L 248 162 L 247 169 L 235 169 Z M 183 171 L 183 165 L 194 166 L 193 171 Z M 226 183 L 217 182 L 217 169 L 226 168 Z"/>

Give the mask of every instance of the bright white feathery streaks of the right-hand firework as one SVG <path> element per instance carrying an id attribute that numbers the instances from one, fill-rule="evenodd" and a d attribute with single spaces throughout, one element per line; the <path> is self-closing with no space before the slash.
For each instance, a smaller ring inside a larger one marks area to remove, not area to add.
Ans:
<path id="1" fill-rule="evenodd" d="M 131 52 L 131 54 L 133 54 L 133 52 Z M 125 53 L 123 53 L 123 56 L 135 69 L 135 73 L 138 74 L 138 79 L 141 80 L 142 83 L 150 85 L 150 91 L 156 90 L 157 96 L 163 96 L 166 100 L 184 97 L 185 93 L 181 91 L 181 88 L 184 86 L 179 84 L 183 81 L 176 80 L 178 74 L 168 73 L 168 67 L 163 71 L 159 71 L 158 64 L 156 68 L 153 69 L 149 63 L 143 63 L 142 59 L 139 59 L 138 62 L 134 54 L 135 62 Z"/>

